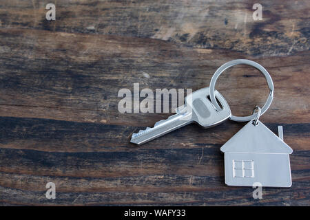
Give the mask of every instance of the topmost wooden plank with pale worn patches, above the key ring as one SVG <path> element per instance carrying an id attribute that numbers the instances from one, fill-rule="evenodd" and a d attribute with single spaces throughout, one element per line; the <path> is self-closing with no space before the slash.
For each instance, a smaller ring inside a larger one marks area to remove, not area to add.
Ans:
<path id="1" fill-rule="evenodd" d="M 198 48 L 281 56 L 309 48 L 310 3 L 265 1 L 254 21 L 255 1 L 49 1 L 56 21 L 46 21 L 44 1 L 3 0 L 2 26 L 56 32 L 161 39 Z M 293 15 L 293 16 L 292 16 Z"/>

